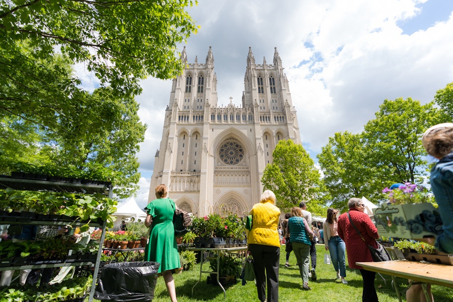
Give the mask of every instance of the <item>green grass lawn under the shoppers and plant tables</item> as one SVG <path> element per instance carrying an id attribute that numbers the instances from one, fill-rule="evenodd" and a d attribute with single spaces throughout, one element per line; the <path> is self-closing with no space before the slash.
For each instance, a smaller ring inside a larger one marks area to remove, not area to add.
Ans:
<path id="1" fill-rule="evenodd" d="M 341 302 L 341 301 L 361 301 L 362 296 L 362 278 L 358 270 L 349 269 L 346 260 L 346 280 L 348 284 L 342 284 L 340 280 L 335 280 L 335 271 L 332 265 L 324 264 L 324 254 L 326 253 L 324 245 L 317 246 L 317 281 L 309 281 L 312 290 L 306 291 L 301 289 L 302 279 L 299 270 L 295 265 L 296 259 L 294 253 L 291 253 L 289 263 L 291 266 L 285 268 L 284 246 L 280 254 L 280 271 L 279 271 L 279 301 L 311 301 L 311 302 Z M 327 252 L 328 253 L 328 252 Z M 203 270 L 208 270 L 208 264 L 203 265 Z M 453 267 L 452 267 L 453 273 Z M 192 296 L 192 287 L 197 282 L 200 274 L 200 266 L 196 265 L 191 271 L 184 271 L 181 274 L 174 275 L 176 294 L 179 302 L 185 301 L 258 301 L 258 295 L 254 282 L 247 282 L 242 285 L 241 280 L 236 284 L 226 288 L 226 299 L 223 298 L 223 291 L 218 285 L 206 283 L 208 274 L 202 274 L 201 281 L 195 286 Z M 376 275 L 375 286 L 378 292 L 380 302 L 398 301 L 397 295 L 391 286 L 392 278 L 383 275 L 384 280 Z M 407 280 L 397 278 L 400 288 L 404 289 Z M 453 302 L 453 289 L 442 286 L 432 286 L 434 300 L 436 302 Z M 168 302 L 170 297 L 167 293 L 164 279 L 159 277 L 157 281 L 155 298 L 153 301 Z M 405 297 L 403 300 L 406 300 Z"/>

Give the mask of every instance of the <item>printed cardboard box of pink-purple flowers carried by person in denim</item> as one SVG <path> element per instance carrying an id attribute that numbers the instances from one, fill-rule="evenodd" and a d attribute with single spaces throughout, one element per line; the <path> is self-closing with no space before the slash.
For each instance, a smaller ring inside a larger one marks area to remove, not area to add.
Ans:
<path id="1" fill-rule="evenodd" d="M 373 209 L 380 235 L 416 239 L 442 232 L 440 214 L 424 187 L 405 183 L 393 190 L 385 188 L 383 193 L 389 202 Z"/>

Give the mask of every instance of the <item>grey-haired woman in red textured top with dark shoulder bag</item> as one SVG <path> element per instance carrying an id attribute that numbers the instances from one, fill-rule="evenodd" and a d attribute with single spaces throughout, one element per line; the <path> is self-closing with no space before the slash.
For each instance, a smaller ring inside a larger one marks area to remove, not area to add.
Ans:
<path id="1" fill-rule="evenodd" d="M 348 201 L 349 215 L 356 228 L 362 234 L 366 243 L 360 238 L 354 226 L 349 221 L 348 213 L 343 213 L 338 218 L 338 235 L 346 243 L 348 263 L 350 268 L 360 270 L 363 279 L 362 302 L 378 302 L 378 294 L 374 288 L 375 272 L 364 270 L 356 262 L 372 262 L 371 253 L 367 247 L 371 245 L 378 248 L 375 239 L 378 239 L 378 229 L 369 216 L 364 213 L 365 205 L 360 198 L 351 198 Z"/>

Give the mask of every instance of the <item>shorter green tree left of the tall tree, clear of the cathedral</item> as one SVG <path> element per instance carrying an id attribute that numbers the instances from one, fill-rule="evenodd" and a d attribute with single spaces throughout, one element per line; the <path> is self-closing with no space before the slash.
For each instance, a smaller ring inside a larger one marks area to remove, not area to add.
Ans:
<path id="1" fill-rule="evenodd" d="M 379 179 L 380 171 L 367 164 L 361 134 L 335 133 L 317 157 L 332 197 L 331 207 L 344 208 L 352 197 L 374 199 L 381 193 L 382 183 L 373 181 Z"/>

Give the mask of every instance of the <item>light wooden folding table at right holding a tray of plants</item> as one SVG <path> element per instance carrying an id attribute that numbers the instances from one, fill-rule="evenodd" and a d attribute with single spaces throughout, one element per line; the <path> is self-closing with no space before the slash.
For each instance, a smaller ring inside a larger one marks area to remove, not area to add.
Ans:
<path id="1" fill-rule="evenodd" d="M 384 262 L 357 262 L 363 269 L 392 276 L 398 299 L 401 294 L 398 290 L 395 277 L 422 282 L 423 292 L 426 292 L 426 283 L 453 288 L 453 266 L 445 264 L 422 263 L 418 261 L 393 260 Z M 428 299 L 429 300 L 429 299 Z"/>

